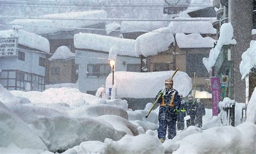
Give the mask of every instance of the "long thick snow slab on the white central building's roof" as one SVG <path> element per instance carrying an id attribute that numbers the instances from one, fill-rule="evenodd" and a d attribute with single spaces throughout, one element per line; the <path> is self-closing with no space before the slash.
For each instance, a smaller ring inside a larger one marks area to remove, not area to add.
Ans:
<path id="1" fill-rule="evenodd" d="M 135 40 L 123 39 L 110 36 L 102 36 L 98 34 L 79 33 L 74 36 L 74 45 L 80 49 L 90 49 L 96 51 L 109 52 L 111 47 L 116 45 L 118 55 L 129 55 L 139 57 L 134 50 Z"/>

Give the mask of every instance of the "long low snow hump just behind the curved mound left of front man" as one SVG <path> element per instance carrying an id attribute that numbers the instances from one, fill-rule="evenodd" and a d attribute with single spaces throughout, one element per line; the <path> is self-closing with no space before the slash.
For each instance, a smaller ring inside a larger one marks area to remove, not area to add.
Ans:
<path id="1" fill-rule="evenodd" d="M 126 110 L 107 104 L 95 104 L 91 106 L 84 106 L 82 108 L 76 108 L 70 111 L 70 114 L 75 116 L 91 117 L 98 117 L 102 115 L 117 115 L 128 120 L 128 114 Z"/>

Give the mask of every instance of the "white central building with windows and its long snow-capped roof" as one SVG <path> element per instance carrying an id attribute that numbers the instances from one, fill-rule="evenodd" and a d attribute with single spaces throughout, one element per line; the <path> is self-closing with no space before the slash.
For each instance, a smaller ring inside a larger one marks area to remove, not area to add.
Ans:
<path id="1" fill-rule="evenodd" d="M 117 53 L 114 71 L 140 72 L 140 58 L 135 51 L 135 41 L 98 34 L 76 34 L 74 44 L 79 90 L 95 94 L 100 86 L 105 85 L 106 77 L 111 73 L 108 59 L 112 50 Z"/>

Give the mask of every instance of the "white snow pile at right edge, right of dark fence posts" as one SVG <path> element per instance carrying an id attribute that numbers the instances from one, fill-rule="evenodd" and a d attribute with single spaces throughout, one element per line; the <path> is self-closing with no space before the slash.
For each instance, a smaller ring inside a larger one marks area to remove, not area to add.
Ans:
<path id="1" fill-rule="evenodd" d="M 246 110 L 247 120 L 246 122 L 252 122 L 256 124 L 256 90 L 253 90 L 250 101 L 247 104 Z"/>

